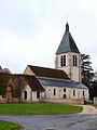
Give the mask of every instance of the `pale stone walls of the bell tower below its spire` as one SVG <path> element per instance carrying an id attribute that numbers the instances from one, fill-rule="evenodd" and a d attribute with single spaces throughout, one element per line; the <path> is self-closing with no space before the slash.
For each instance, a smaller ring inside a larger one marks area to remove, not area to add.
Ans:
<path id="1" fill-rule="evenodd" d="M 61 55 L 66 55 L 66 66 L 64 66 L 64 67 L 60 66 Z M 77 55 L 78 66 L 73 66 L 72 55 Z M 65 73 L 67 73 L 67 75 L 69 76 L 69 78 L 71 80 L 81 82 L 81 57 L 80 57 L 80 54 L 68 52 L 68 53 L 63 53 L 63 54 L 56 55 L 55 68 L 65 70 Z"/>

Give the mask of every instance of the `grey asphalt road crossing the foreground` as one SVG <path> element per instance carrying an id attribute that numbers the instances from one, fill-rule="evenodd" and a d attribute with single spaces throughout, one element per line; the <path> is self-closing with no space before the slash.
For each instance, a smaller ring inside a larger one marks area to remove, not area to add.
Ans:
<path id="1" fill-rule="evenodd" d="M 97 114 L 0 116 L 24 130 L 97 130 Z"/>

